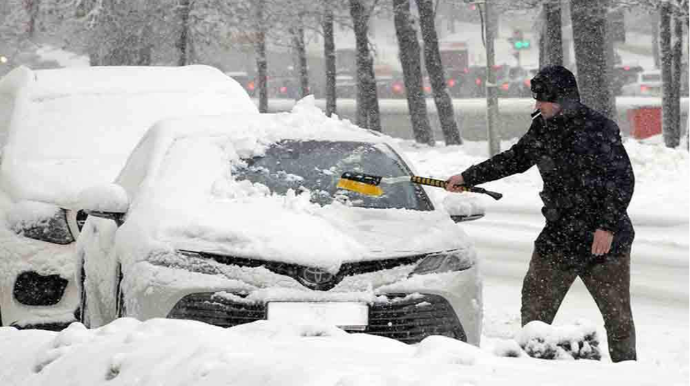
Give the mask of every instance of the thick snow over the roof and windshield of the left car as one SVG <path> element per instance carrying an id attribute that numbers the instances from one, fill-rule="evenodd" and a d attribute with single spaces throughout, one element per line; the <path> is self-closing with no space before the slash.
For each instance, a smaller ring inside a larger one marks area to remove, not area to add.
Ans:
<path id="1" fill-rule="evenodd" d="M 11 127 L 0 127 L 8 132 L 1 183 L 15 197 L 63 206 L 112 182 L 162 118 L 258 115 L 236 81 L 208 66 L 20 67 L 0 81 L 0 95 L 14 96 Z"/>

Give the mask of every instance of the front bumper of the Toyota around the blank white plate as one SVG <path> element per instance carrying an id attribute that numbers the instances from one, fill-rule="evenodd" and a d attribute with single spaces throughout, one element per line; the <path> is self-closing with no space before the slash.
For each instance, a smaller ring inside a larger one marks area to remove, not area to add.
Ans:
<path id="1" fill-rule="evenodd" d="M 478 267 L 408 277 L 411 270 L 353 275 L 332 290 L 316 291 L 289 277 L 272 277 L 262 268 L 242 269 L 244 275 L 200 276 L 139 262 L 128 270 L 134 274 L 125 273 L 123 290 L 127 316 L 141 320 L 169 317 L 232 327 L 267 319 L 271 302 L 357 302 L 369 310 L 369 324 L 362 332 L 407 343 L 445 335 L 478 346 L 482 324 Z M 252 277 L 259 279 L 252 282 Z"/>

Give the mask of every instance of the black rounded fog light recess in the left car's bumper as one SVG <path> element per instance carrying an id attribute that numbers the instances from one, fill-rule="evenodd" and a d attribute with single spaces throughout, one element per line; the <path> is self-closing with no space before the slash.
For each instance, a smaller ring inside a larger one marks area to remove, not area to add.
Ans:
<path id="1" fill-rule="evenodd" d="M 60 275 L 41 275 L 34 271 L 22 272 L 14 282 L 14 298 L 27 306 L 58 304 L 67 288 L 67 280 Z"/>

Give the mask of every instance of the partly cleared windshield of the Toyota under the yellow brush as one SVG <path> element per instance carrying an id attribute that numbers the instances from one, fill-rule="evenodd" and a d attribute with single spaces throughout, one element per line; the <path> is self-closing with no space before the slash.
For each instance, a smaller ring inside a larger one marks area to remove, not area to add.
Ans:
<path id="1" fill-rule="evenodd" d="M 244 161 L 246 165 L 233 171 L 235 178 L 264 184 L 276 194 L 306 189 L 311 192 L 311 201 L 320 205 L 337 200 L 365 208 L 433 209 L 424 190 L 411 183 L 381 185 L 384 194 L 379 197 L 336 187 L 346 171 L 382 177 L 410 175 L 403 161 L 386 145 L 286 140 L 269 147 L 264 156 Z"/>

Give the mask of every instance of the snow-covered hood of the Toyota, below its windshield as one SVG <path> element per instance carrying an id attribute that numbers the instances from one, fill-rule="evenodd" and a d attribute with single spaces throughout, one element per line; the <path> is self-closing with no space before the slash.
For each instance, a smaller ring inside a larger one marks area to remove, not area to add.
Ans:
<path id="1" fill-rule="evenodd" d="M 442 211 L 321 207 L 272 197 L 131 213 L 123 232 L 136 223 L 130 233 L 150 234 L 170 248 L 332 271 L 347 262 L 469 248 L 465 233 Z"/>

